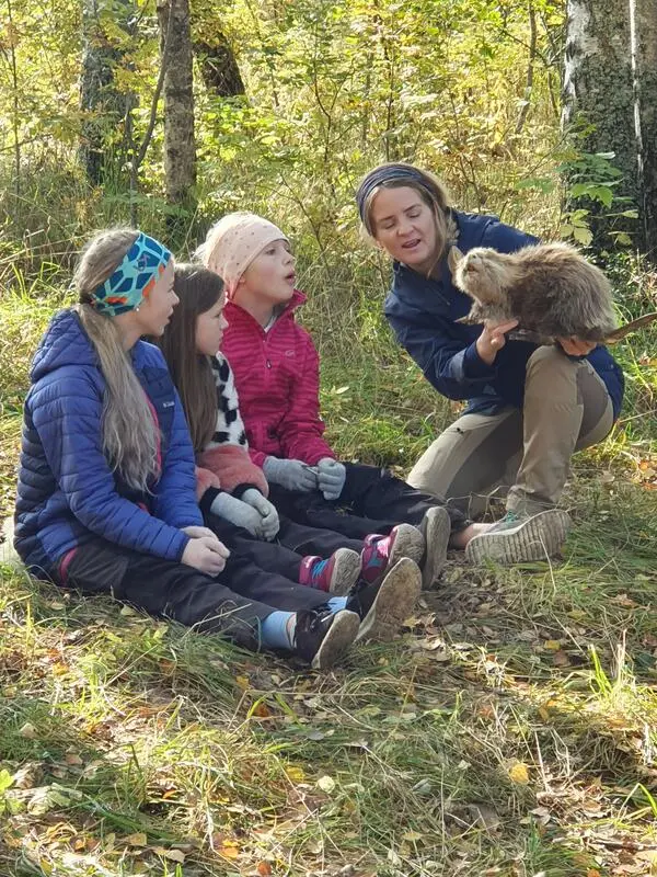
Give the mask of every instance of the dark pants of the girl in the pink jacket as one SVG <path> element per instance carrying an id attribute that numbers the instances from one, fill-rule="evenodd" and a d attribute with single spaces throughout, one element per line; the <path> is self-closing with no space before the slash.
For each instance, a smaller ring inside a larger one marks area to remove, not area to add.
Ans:
<path id="1" fill-rule="evenodd" d="M 319 490 L 301 493 L 278 485 L 269 486 L 269 500 L 280 514 L 297 524 L 337 531 L 353 539 L 362 539 L 368 533 L 388 534 L 395 524 L 418 525 L 427 511 L 436 505 L 447 509 L 452 533 L 469 524 L 458 509 L 415 490 L 388 469 L 356 463 L 343 465 L 347 477 L 338 500 L 328 502 Z"/>

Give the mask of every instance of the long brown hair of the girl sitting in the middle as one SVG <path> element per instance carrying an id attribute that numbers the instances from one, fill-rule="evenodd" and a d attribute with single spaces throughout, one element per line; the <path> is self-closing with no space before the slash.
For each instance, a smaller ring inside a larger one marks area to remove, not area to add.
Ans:
<path id="1" fill-rule="evenodd" d="M 159 344 L 183 402 L 194 451 L 199 454 L 215 432 L 217 388 L 209 356 L 196 352 L 196 320 L 217 304 L 223 281 L 200 265 L 176 264 L 173 288 L 180 304 Z"/>

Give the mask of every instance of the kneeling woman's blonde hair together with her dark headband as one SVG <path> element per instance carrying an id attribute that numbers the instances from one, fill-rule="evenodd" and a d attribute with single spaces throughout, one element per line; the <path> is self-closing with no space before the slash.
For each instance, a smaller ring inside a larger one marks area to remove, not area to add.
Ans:
<path id="1" fill-rule="evenodd" d="M 436 263 L 456 244 L 458 226 L 451 215 L 450 200 L 445 183 L 429 171 L 414 164 L 388 162 L 371 170 L 358 186 L 357 201 L 366 234 L 377 240 L 372 221 L 374 198 L 382 189 L 413 189 L 431 209 L 436 221 Z M 431 266 L 434 267 L 434 266 Z"/>

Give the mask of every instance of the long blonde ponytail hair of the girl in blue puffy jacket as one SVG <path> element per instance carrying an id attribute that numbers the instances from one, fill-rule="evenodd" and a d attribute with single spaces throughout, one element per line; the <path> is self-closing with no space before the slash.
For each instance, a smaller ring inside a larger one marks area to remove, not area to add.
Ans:
<path id="1" fill-rule="evenodd" d="M 91 294 L 112 276 L 138 234 L 132 228 L 100 231 L 82 251 L 74 282 L 80 296 L 80 321 L 105 378 L 103 453 L 129 487 L 146 492 L 160 474 L 155 419 L 114 319 L 91 305 Z"/>

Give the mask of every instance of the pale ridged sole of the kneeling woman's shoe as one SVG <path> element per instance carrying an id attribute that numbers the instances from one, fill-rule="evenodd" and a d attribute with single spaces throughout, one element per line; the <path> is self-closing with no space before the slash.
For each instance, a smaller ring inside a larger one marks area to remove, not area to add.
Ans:
<path id="1" fill-rule="evenodd" d="M 516 529 L 499 533 L 482 533 L 474 536 L 465 547 L 469 563 L 522 563 L 528 560 L 545 560 L 557 554 L 570 529 L 570 517 L 560 509 L 530 517 Z"/>

